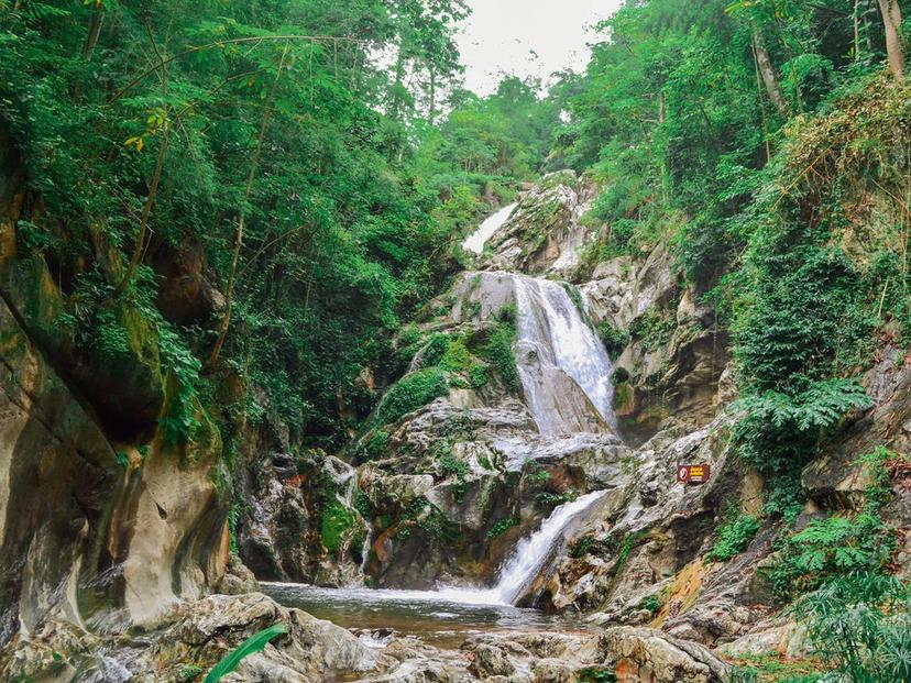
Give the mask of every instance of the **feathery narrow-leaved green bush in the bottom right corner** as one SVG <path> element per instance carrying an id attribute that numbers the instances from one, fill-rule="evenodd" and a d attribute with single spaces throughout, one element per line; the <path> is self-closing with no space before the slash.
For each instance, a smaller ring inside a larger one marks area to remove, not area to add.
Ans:
<path id="1" fill-rule="evenodd" d="M 814 654 L 838 680 L 911 681 L 911 597 L 898 580 L 845 576 L 801 598 L 793 612 L 808 627 Z"/>

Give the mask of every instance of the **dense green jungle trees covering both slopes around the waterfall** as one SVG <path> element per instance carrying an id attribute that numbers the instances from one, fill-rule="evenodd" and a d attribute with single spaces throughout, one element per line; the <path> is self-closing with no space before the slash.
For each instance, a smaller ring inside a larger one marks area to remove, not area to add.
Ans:
<path id="1" fill-rule="evenodd" d="M 50 265 L 77 344 L 123 351 L 113 302 L 154 328 L 175 438 L 232 376 L 223 419 L 268 407 L 338 445 L 376 404 L 363 370 L 402 372 L 391 339 L 459 269 L 456 238 L 573 167 L 606 188 L 589 261 L 676 244 L 735 332 L 744 455 L 793 474 L 865 405 L 849 377 L 877 335 L 911 333 L 902 27 L 880 4 L 628 2 L 584 74 L 479 98 L 459 0 L 6 2 L 17 249 Z M 211 310 L 160 291 L 182 254 Z"/>

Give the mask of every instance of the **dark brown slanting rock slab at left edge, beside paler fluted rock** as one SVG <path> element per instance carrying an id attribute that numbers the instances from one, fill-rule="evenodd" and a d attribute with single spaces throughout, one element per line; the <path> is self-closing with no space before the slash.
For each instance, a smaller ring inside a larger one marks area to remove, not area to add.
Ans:
<path id="1" fill-rule="evenodd" d="M 127 477 L 102 430 L 2 301 L 0 329 L 2 646 L 46 618 L 81 620 L 80 581 L 114 566 L 108 552 L 91 549 L 107 546 L 107 517 Z"/>

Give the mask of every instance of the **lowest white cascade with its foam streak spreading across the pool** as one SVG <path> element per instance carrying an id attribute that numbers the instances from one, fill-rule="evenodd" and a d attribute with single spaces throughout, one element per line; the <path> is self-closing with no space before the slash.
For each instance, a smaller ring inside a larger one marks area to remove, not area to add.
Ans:
<path id="1" fill-rule="evenodd" d="M 526 588 L 544 568 L 553 548 L 562 539 L 570 525 L 586 513 L 603 495 L 603 491 L 596 491 L 556 507 L 550 516 L 541 522 L 537 531 L 519 541 L 512 555 L 500 570 L 497 583 L 492 588 L 442 586 L 436 591 L 341 588 L 333 590 L 333 592 L 342 592 L 347 597 L 356 598 L 364 603 L 441 602 L 456 605 L 513 605 L 523 597 Z M 265 585 L 294 584 L 266 583 Z"/>

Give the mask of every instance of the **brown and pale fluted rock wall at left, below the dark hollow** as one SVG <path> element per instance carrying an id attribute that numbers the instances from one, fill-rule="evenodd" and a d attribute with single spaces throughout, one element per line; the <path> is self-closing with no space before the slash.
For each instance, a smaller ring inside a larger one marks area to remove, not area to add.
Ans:
<path id="1" fill-rule="evenodd" d="M 213 426 L 200 414 L 190 444 L 156 433 L 144 456 L 116 449 L 6 304 L 0 327 L 2 642 L 110 609 L 154 623 L 178 596 L 218 583 L 228 548 Z"/>

